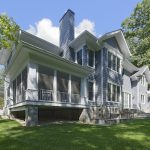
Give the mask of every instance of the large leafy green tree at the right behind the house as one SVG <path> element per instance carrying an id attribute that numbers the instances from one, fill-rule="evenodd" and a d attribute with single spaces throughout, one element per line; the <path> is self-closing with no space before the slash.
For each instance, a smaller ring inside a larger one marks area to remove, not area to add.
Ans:
<path id="1" fill-rule="evenodd" d="M 122 28 L 133 54 L 132 62 L 139 67 L 150 67 L 150 0 L 138 3 L 131 16 L 123 21 Z"/>

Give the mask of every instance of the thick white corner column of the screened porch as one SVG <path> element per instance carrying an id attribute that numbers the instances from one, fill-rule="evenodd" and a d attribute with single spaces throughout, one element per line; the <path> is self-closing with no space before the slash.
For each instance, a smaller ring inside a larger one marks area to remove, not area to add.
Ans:
<path id="1" fill-rule="evenodd" d="M 27 79 L 27 92 L 26 100 L 38 100 L 38 70 L 37 64 L 29 63 L 28 64 L 28 79 Z"/>

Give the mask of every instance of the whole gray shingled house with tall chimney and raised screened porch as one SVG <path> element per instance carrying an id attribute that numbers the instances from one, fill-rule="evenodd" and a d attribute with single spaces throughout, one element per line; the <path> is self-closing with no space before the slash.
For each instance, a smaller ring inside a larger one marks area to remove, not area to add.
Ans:
<path id="1" fill-rule="evenodd" d="M 20 30 L 13 51 L 2 50 L 6 67 L 4 115 L 26 125 L 46 119 L 105 123 L 127 112 L 150 112 L 147 66 L 130 62 L 121 30 L 97 38 L 74 37 L 74 12 L 60 20 L 57 47 Z"/>

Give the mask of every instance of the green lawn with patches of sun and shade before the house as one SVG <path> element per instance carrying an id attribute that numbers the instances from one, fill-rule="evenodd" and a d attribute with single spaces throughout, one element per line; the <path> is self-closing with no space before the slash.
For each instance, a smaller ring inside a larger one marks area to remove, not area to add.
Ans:
<path id="1" fill-rule="evenodd" d="M 112 126 L 77 123 L 22 127 L 0 120 L 0 150 L 150 150 L 150 120 Z"/>

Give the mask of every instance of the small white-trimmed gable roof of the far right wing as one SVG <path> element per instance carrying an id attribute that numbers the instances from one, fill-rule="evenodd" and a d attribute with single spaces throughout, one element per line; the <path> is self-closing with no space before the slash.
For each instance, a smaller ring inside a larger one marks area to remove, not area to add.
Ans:
<path id="1" fill-rule="evenodd" d="M 139 68 L 138 72 L 131 76 L 131 80 L 136 80 L 138 77 L 145 75 L 148 83 L 150 83 L 150 71 L 148 66 L 143 66 Z"/>

